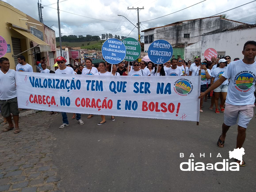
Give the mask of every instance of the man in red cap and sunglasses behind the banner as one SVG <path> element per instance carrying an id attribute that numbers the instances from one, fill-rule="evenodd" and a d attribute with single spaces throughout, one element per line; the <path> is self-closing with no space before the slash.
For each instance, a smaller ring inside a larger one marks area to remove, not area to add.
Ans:
<path id="1" fill-rule="evenodd" d="M 57 64 L 59 65 L 59 69 L 57 69 L 55 71 L 55 74 L 75 74 L 74 70 L 71 67 L 67 67 L 65 65 L 67 60 L 64 57 L 57 57 L 56 61 L 57 61 Z M 60 125 L 60 127 L 59 127 L 60 129 L 69 126 L 67 113 L 66 112 L 61 112 L 61 115 L 62 115 L 63 124 Z M 84 122 L 81 119 L 81 114 L 80 113 L 76 114 L 76 120 L 79 122 L 79 124 L 81 124 L 81 125 L 84 124 Z"/>

